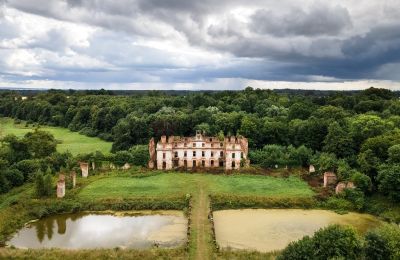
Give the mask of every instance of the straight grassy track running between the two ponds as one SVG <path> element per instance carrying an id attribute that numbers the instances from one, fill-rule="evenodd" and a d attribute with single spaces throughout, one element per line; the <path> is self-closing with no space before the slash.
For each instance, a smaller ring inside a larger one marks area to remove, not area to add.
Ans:
<path id="1" fill-rule="evenodd" d="M 210 202 L 206 186 L 199 182 L 193 194 L 190 259 L 211 259 L 213 254 L 211 224 L 208 220 Z"/>

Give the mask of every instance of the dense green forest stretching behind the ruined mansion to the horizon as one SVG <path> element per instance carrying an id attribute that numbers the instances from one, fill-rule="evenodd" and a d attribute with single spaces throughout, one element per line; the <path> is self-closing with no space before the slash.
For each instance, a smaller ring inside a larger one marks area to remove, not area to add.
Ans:
<path id="1" fill-rule="evenodd" d="M 319 172 L 333 170 L 341 180 L 355 180 L 363 192 L 379 190 L 400 200 L 400 101 L 385 89 L 318 95 L 249 87 L 129 96 L 50 90 L 24 98 L 1 92 L 0 114 L 99 136 L 113 141 L 114 152 L 145 145 L 150 137 L 193 135 L 197 129 L 240 134 L 249 139 L 250 159 L 261 166 L 313 163 Z M 25 152 L 29 159 L 43 155 L 22 149 L 10 160 L 26 160 Z M 116 158 L 135 160 L 123 152 Z"/>

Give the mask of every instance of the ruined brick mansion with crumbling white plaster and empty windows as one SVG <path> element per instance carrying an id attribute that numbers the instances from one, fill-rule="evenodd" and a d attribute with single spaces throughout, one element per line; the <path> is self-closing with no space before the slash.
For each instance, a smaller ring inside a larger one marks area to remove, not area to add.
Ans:
<path id="1" fill-rule="evenodd" d="M 242 136 L 228 136 L 224 140 L 197 131 L 194 137 L 162 136 L 155 144 L 149 143 L 149 167 L 240 169 L 249 164 L 248 142 Z"/>

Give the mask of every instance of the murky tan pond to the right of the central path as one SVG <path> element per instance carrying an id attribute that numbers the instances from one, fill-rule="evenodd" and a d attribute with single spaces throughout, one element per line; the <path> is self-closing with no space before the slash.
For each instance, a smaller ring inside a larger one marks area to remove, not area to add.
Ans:
<path id="1" fill-rule="evenodd" d="M 243 209 L 214 213 L 215 236 L 222 248 L 261 252 L 281 250 L 291 241 L 330 224 L 350 225 L 361 234 L 381 221 L 372 215 L 339 215 L 328 210 Z"/>

